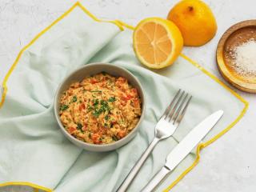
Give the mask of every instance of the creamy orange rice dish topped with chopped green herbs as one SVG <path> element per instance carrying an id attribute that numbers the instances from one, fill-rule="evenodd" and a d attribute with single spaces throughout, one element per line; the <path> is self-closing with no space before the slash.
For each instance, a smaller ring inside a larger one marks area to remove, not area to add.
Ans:
<path id="1" fill-rule="evenodd" d="M 126 78 L 102 72 L 74 82 L 60 98 L 62 125 L 74 138 L 107 144 L 124 138 L 142 113 L 138 90 Z"/>

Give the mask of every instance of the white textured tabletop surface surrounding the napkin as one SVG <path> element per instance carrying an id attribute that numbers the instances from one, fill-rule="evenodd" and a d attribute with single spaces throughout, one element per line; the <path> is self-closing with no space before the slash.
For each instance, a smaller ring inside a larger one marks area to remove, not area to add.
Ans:
<path id="1" fill-rule="evenodd" d="M 0 82 L 19 50 L 69 9 L 74 2 L 71 0 L 0 0 Z M 178 0 L 87 0 L 81 2 L 98 18 L 120 19 L 136 25 L 146 17 L 165 18 L 170 7 Z M 205 46 L 186 47 L 183 53 L 221 78 L 215 62 L 218 39 L 234 23 L 256 18 L 256 1 L 208 0 L 206 2 L 216 16 L 218 33 Z M 245 117 L 228 134 L 202 151 L 201 162 L 172 191 L 256 191 L 256 150 L 254 149 L 256 146 L 256 139 L 254 139 L 256 95 L 240 91 L 238 93 L 250 102 L 250 109 Z"/>

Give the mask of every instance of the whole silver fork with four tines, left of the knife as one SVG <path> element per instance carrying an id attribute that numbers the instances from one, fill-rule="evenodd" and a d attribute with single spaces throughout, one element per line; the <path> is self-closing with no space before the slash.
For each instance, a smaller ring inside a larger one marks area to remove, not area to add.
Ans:
<path id="1" fill-rule="evenodd" d="M 182 121 L 186 108 L 190 103 L 190 99 L 192 98 L 192 96 L 189 94 L 185 94 L 185 96 L 184 94 L 184 90 L 178 90 L 178 93 L 174 96 L 174 99 L 170 102 L 170 105 L 167 106 L 165 112 L 162 114 L 162 117 L 154 127 L 153 141 L 142 154 L 142 157 L 138 160 L 133 169 L 130 170 L 130 173 L 126 176 L 121 186 L 119 186 L 117 192 L 125 192 L 128 189 L 130 183 L 133 181 L 143 163 L 146 161 L 146 158 L 148 158 L 151 151 L 154 149 L 154 146 L 156 146 L 162 139 L 169 138 L 172 134 L 174 134 L 174 131 Z"/>

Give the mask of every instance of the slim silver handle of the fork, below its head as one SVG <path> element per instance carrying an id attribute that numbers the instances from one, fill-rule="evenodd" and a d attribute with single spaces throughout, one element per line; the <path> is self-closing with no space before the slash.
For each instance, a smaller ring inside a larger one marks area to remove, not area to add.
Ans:
<path id="1" fill-rule="evenodd" d="M 134 177 L 138 174 L 138 171 L 141 169 L 142 165 L 146 161 L 146 158 L 150 155 L 151 151 L 154 149 L 154 146 L 160 141 L 159 138 L 154 138 L 150 143 L 150 146 L 146 149 L 146 151 L 142 154 L 142 157 L 139 158 L 138 162 L 135 166 L 130 170 L 130 173 L 126 176 L 125 180 L 122 182 L 121 186 L 119 186 L 117 192 L 125 192 L 130 183 L 134 180 Z"/>

